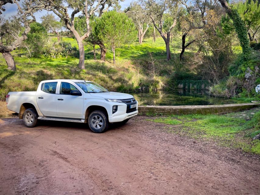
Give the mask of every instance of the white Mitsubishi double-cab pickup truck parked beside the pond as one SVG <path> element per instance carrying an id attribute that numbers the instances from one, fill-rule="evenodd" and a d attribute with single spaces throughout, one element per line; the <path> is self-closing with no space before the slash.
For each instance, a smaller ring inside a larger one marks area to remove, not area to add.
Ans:
<path id="1" fill-rule="evenodd" d="M 109 92 L 85 80 L 45 80 L 37 91 L 9 92 L 7 108 L 19 113 L 27 127 L 41 120 L 88 123 L 102 133 L 109 123 L 125 123 L 138 114 L 138 102 L 130 94 Z"/>

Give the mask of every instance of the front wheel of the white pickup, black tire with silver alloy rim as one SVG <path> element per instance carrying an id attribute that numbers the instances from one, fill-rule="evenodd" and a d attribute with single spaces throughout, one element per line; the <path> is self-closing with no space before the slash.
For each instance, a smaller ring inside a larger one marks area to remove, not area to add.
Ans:
<path id="1" fill-rule="evenodd" d="M 96 110 L 88 117 L 88 126 L 94 133 L 103 133 L 109 127 L 109 121 L 105 112 Z"/>

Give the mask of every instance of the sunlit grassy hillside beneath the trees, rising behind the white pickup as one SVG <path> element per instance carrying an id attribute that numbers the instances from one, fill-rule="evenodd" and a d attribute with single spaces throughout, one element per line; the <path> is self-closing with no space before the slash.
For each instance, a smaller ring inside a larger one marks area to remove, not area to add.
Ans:
<path id="1" fill-rule="evenodd" d="M 50 35 L 52 41 L 57 41 L 54 35 Z M 70 42 L 77 47 L 77 42 L 71 37 L 63 37 L 62 41 Z M 173 43 L 172 52 L 180 53 L 180 40 Z M 176 47 L 178 46 L 178 47 Z M 97 46 L 97 58 L 99 58 L 99 47 Z M 5 60 L 0 55 L 0 100 L 5 99 L 9 91 L 36 90 L 41 80 L 47 79 L 85 79 L 101 84 L 114 91 L 132 90 L 142 83 L 149 85 L 147 66 L 149 64 L 148 52 L 153 52 L 154 59 L 158 66 L 158 72 L 171 74 L 173 62 L 168 62 L 165 52 L 165 43 L 161 37 L 152 43 L 152 39 L 144 40 L 142 45 L 134 42 L 116 49 L 116 64 L 112 64 L 112 52 L 108 49 L 106 62 L 94 61 L 93 50 L 85 45 L 85 66 L 86 70 L 77 69 L 78 53 L 68 58 L 30 58 L 24 56 L 27 51 L 12 51 L 17 70 L 7 70 Z M 173 54 L 173 60 L 179 54 Z M 191 55 L 187 49 L 186 55 Z"/>

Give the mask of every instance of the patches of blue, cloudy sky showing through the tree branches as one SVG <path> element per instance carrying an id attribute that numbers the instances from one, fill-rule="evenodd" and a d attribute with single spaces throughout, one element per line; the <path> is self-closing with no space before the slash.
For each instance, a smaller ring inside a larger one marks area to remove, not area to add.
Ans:
<path id="1" fill-rule="evenodd" d="M 128 7 L 130 5 L 131 1 L 132 0 L 125 0 L 123 2 L 120 2 L 121 9 L 123 10 L 126 7 Z M 23 0 L 20 0 L 19 4 L 21 5 L 22 2 L 23 2 Z M 7 4 L 4 5 L 4 8 L 5 8 L 5 12 L 2 12 L 2 15 L 0 15 L 0 16 L 4 17 L 5 19 L 8 19 L 10 16 L 16 15 L 16 13 L 17 13 L 17 5 L 16 4 L 7 3 Z M 72 12 L 72 10 L 69 10 L 69 14 L 71 14 L 71 12 Z M 36 21 L 41 23 L 41 16 L 44 16 L 47 13 L 48 12 L 46 10 L 34 13 Z M 53 12 L 49 12 L 49 13 L 53 13 Z M 80 13 L 78 13 L 77 15 L 80 15 Z"/>

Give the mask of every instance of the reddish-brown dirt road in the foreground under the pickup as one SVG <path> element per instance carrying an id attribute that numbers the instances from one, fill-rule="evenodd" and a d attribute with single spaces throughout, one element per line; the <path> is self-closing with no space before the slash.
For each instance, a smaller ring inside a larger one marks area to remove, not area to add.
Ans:
<path id="1" fill-rule="evenodd" d="M 0 194 L 260 194 L 259 156 L 131 119 L 85 124 L 0 120 Z"/>

